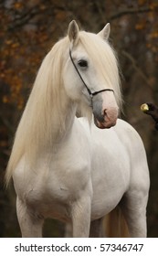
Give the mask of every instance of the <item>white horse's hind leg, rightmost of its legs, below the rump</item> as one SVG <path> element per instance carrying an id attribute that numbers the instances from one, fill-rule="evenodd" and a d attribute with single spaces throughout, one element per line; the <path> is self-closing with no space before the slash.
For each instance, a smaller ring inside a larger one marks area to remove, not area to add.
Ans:
<path id="1" fill-rule="evenodd" d="M 130 236 L 132 238 L 145 238 L 147 236 L 146 205 L 148 197 L 139 197 L 128 193 L 122 200 L 121 209 L 127 222 Z"/>

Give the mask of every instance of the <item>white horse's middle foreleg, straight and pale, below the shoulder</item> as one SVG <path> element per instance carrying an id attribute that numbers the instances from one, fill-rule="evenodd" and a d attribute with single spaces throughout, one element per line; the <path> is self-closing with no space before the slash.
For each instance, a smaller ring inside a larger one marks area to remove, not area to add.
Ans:
<path id="1" fill-rule="evenodd" d="M 90 234 L 90 197 L 81 197 L 72 205 L 71 218 L 74 238 L 88 238 Z"/>

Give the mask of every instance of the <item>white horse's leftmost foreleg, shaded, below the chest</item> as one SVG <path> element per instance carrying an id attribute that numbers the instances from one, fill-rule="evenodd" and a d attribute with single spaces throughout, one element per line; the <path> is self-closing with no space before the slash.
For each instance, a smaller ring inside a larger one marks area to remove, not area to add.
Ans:
<path id="1" fill-rule="evenodd" d="M 23 238 L 42 237 L 44 220 L 33 214 L 18 197 L 16 199 L 16 212 Z"/>

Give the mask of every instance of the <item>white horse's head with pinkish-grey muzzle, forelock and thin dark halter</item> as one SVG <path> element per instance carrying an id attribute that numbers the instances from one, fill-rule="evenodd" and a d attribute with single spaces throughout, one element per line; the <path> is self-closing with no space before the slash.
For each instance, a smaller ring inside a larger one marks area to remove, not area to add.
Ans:
<path id="1" fill-rule="evenodd" d="M 73 101 L 90 106 L 95 124 L 102 129 L 116 124 L 120 98 L 118 66 L 109 35 L 110 24 L 97 35 L 79 31 L 75 21 L 68 27 L 66 91 Z"/>

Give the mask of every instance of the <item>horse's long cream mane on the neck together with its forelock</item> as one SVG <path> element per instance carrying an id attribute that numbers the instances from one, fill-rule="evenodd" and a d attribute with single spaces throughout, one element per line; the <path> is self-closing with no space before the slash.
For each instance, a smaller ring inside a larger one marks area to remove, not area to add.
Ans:
<path id="1" fill-rule="evenodd" d="M 93 34 L 84 31 L 79 32 L 79 43 L 83 45 L 94 63 L 100 66 L 100 72 L 105 73 L 105 80 L 111 84 L 116 100 L 121 106 L 118 63 L 111 46 L 108 42 L 105 43 L 100 38 L 94 38 Z M 51 148 L 54 136 L 65 129 L 63 116 L 60 116 L 62 112 L 60 96 L 65 93 L 62 86 L 62 70 L 64 61 L 67 60 L 64 57 L 68 53 L 68 48 L 68 37 L 59 40 L 48 52 L 38 70 L 37 78 L 26 103 L 26 109 L 16 131 L 15 143 L 7 165 L 6 184 L 23 155 L 26 155 L 30 161 L 34 161 L 40 149 L 43 148 L 44 152 L 46 148 Z M 102 56 L 105 57 L 106 62 Z M 66 119 L 68 116 L 64 118 Z M 58 123 L 54 123 L 53 121 L 57 119 Z M 59 130 L 58 127 L 60 127 Z"/>

